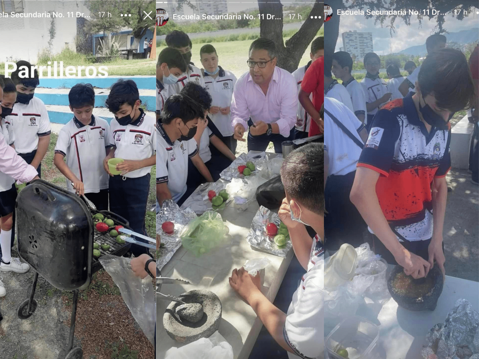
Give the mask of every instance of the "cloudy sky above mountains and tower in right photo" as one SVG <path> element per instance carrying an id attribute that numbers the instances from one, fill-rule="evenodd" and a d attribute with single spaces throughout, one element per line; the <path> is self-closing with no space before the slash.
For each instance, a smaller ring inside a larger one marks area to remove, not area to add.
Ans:
<path id="1" fill-rule="evenodd" d="M 473 8 L 474 9 L 474 8 Z M 451 14 L 445 16 L 444 27 L 449 33 L 456 33 L 461 30 L 467 30 L 474 27 L 479 27 L 479 15 L 476 14 L 478 9 L 474 9 L 469 13 L 463 21 L 458 21 Z M 385 25 L 389 22 L 386 21 Z M 339 37 L 336 43 L 336 50 L 340 51 L 342 46 L 342 33 L 356 30 L 358 33 L 372 33 L 373 34 L 373 48 L 378 55 L 387 55 L 390 53 L 397 53 L 411 46 L 423 45 L 425 39 L 433 34 L 433 28 L 436 26 L 435 19 L 429 20 L 427 17 L 422 19 L 422 26 L 419 27 L 417 17 L 411 16 L 411 25 L 406 25 L 399 17 L 396 19 L 395 31 L 392 37 L 389 33 L 389 28 L 381 28 L 381 24 L 374 24 L 374 17 L 365 19 L 361 15 L 342 15 L 339 24 Z M 447 37 L 447 34 L 445 34 Z"/>

